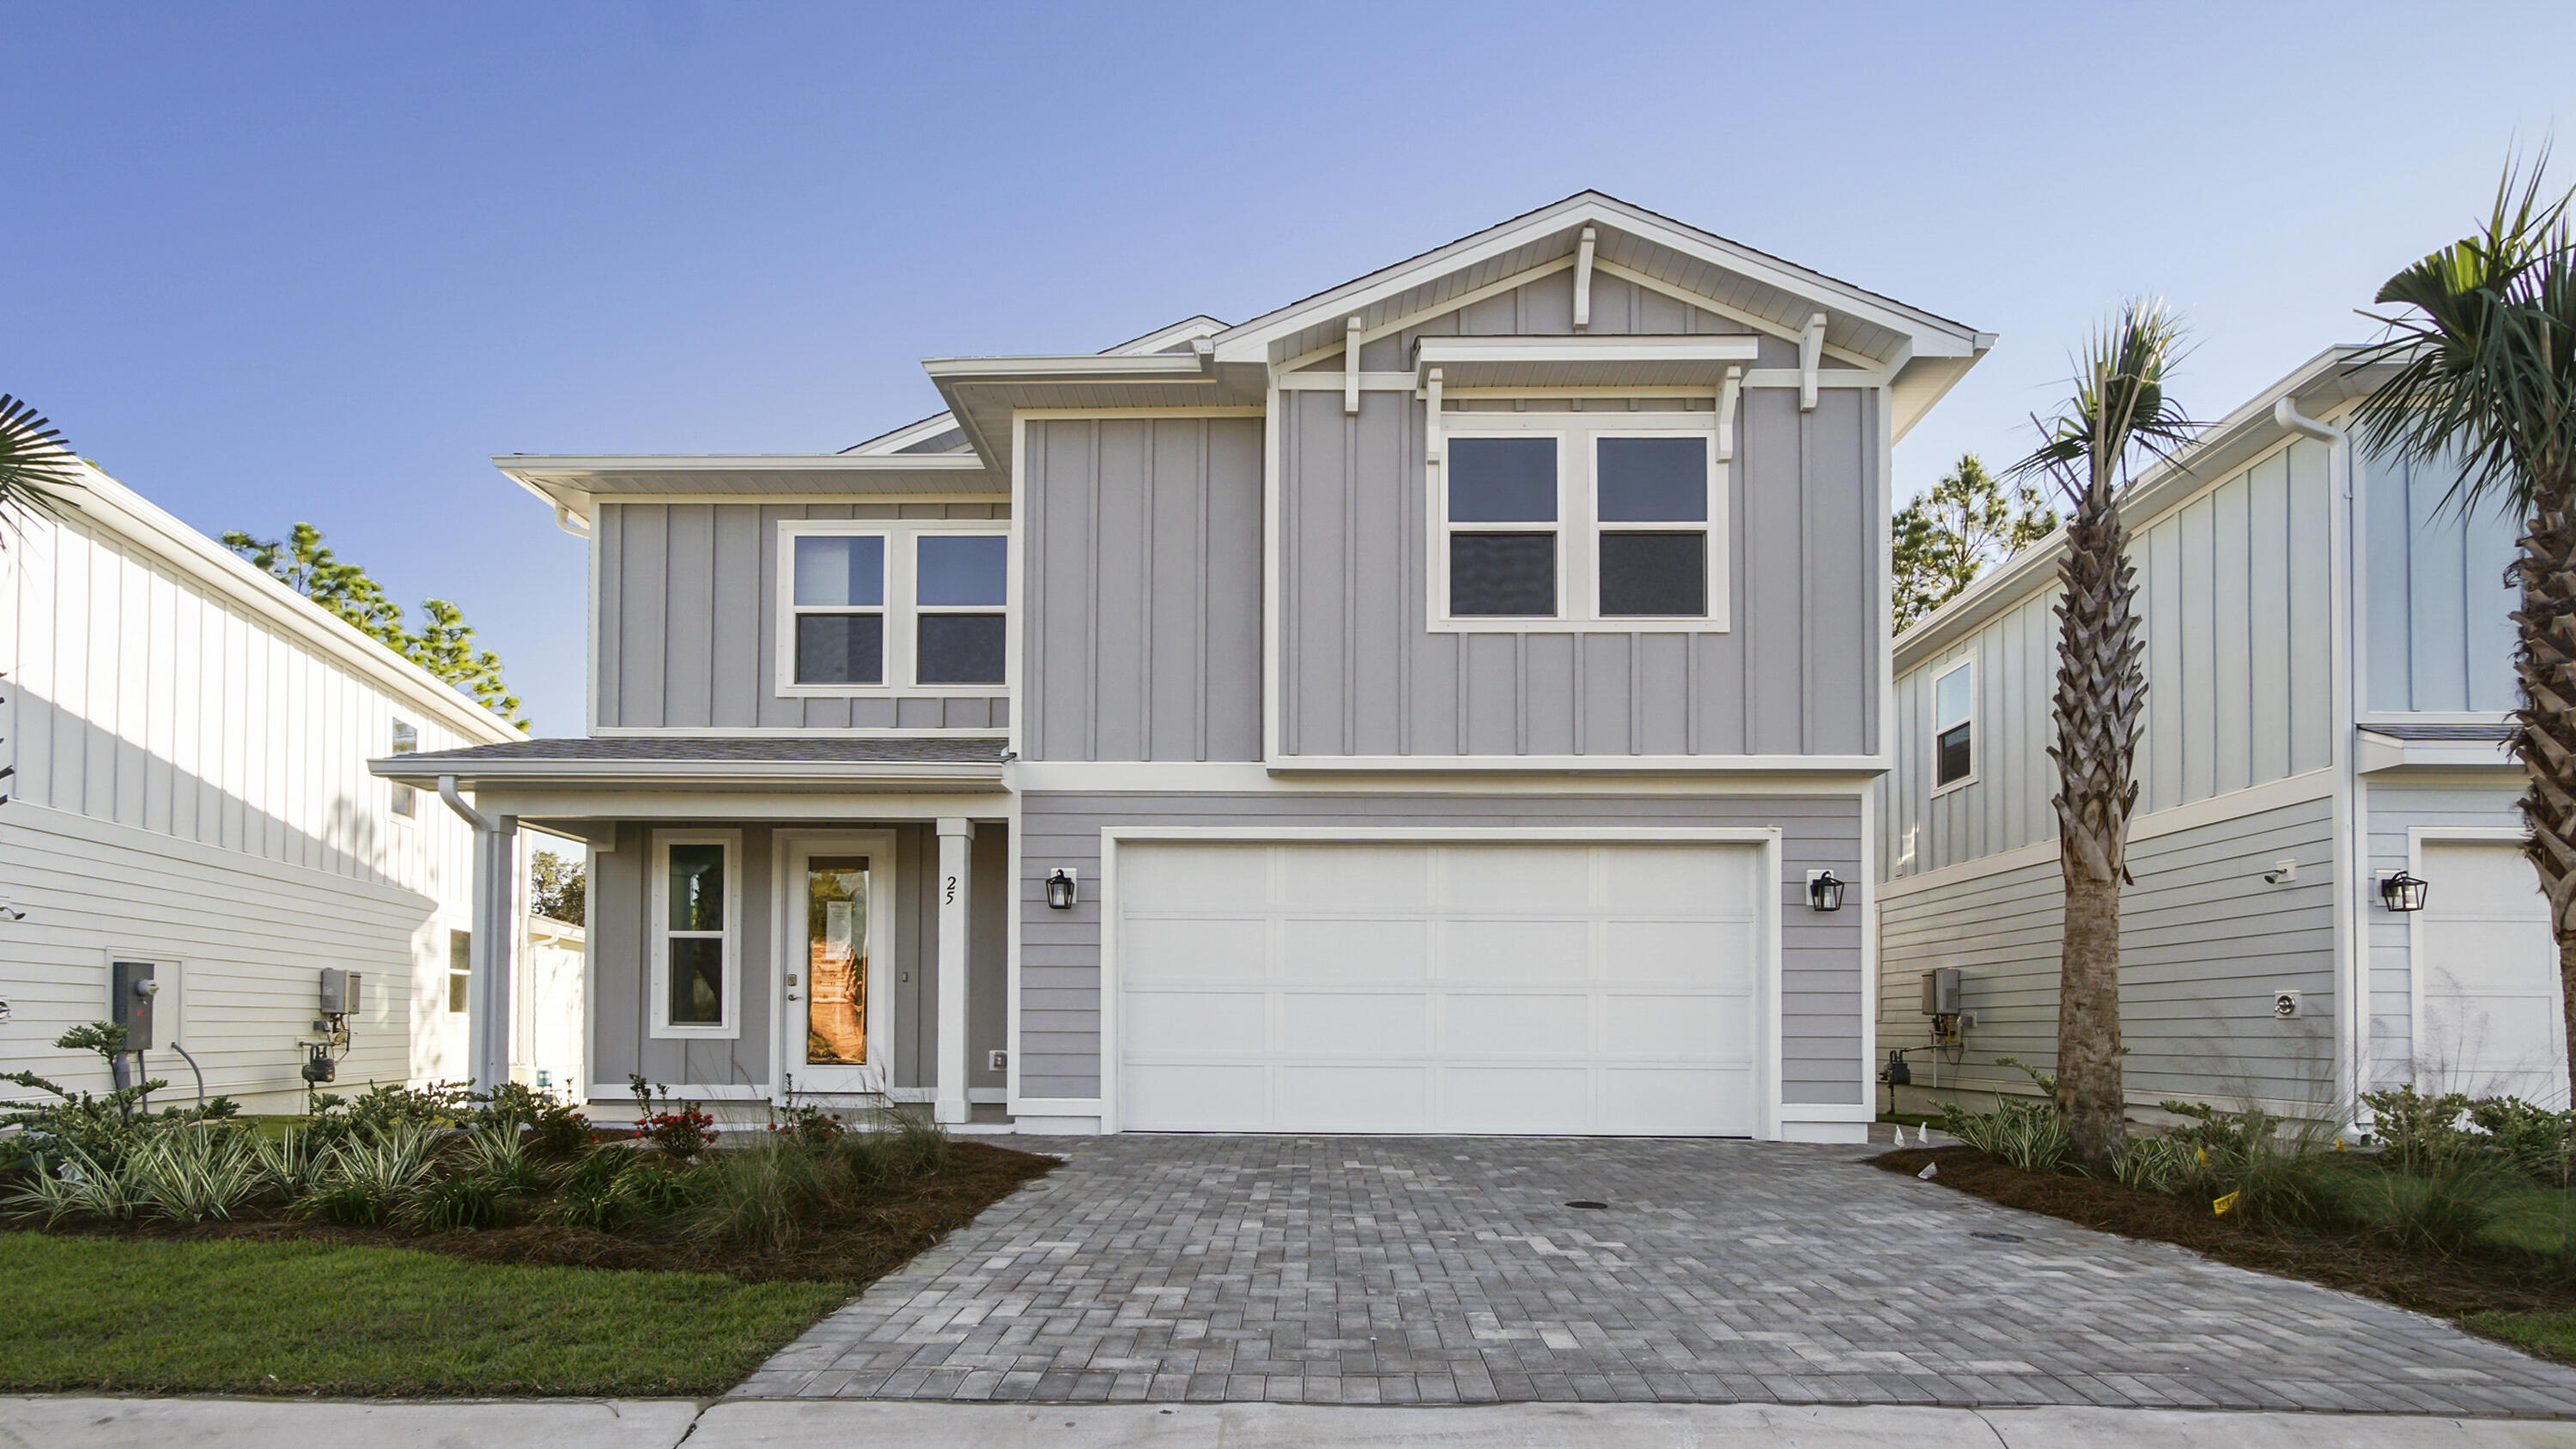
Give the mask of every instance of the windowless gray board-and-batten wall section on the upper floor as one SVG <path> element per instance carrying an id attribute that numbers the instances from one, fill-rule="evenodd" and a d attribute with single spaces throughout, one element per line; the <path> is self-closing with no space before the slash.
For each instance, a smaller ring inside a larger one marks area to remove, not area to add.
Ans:
<path id="1" fill-rule="evenodd" d="M 1262 422 L 1030 420 L 1023 752 L 1260 759 Z"/>

